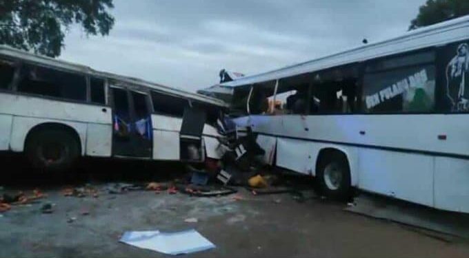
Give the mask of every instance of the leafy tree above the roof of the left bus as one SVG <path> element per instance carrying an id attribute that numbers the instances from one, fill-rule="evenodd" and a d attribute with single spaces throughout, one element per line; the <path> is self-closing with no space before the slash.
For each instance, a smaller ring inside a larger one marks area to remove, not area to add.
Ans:
<path id="1" fill-rule="evenodd" d="M 70 25 L 106 36 L 114 25 L 112 0 L 0 0 L 0 44 L 59 56 Z"/>

